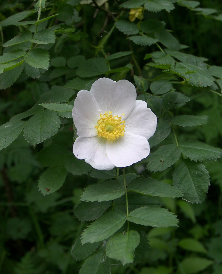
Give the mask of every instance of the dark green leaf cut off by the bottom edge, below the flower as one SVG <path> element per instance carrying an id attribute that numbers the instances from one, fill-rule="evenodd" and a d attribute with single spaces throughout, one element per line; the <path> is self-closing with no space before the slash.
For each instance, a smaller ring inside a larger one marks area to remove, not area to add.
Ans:
<path id="1" fill-rule="evenodd" d="M 111 274 L 110 260 L 104 258 L 103 249 L 91 254 L 83 263 L 79 274 Z"/>

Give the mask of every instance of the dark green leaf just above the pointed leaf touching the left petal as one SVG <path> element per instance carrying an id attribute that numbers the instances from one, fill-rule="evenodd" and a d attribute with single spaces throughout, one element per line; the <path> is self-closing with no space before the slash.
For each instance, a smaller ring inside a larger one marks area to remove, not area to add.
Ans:
<path id="1" fill-rule="evenodd" d="M 63 103 L 67 102 L 75 91 L 67 87 L 52 86 L 50 91 L 47 91 L 41 95 L 40 101 L 45 103 Z"/>

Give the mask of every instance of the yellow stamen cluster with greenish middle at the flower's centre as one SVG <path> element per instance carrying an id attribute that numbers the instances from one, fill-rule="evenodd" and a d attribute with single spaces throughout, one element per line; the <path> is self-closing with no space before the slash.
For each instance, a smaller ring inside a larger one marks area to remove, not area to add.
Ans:
<path id="1" fill-rule="evenodd" d="M 100 119 L 95 126 L 98 136 L 112 141 L 124 136 L 125 120 L 121 121 L 121 119 L 118 115 L 112 116 L 112 111 L 109 111 L 109 114 L 107 111 L 104 114 L 100 113 Z"/>

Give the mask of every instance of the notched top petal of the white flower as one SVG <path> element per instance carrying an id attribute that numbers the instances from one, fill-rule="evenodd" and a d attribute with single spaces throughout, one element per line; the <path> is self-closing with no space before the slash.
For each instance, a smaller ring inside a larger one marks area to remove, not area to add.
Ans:
<path id="1" fill-rule="evenodd" d="M 109 78 L 100 78 L 92 84 L 90 92 L 96 98 L 102 114 L 112 111 L 112 115 L 121 116 L 123 113 L 125 119 L 136 103 L 136 89 L 127 80 L 115 82 Z"/>

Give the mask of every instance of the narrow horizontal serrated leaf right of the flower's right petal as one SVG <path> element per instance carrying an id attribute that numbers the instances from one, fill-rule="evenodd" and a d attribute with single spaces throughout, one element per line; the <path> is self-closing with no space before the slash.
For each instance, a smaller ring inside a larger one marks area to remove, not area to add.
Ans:
<path id="1" fill-rule="evenodd" d="M 199 126 L 202 124 L 206 124 L 207 122 L 208 122 L 208 117 L 206 115 L 203 115 L 203 116 L 178 115 L 173 117 L 171 124 L 182 126 L 182 127 L 192 127 L 192 126 Z"/>

